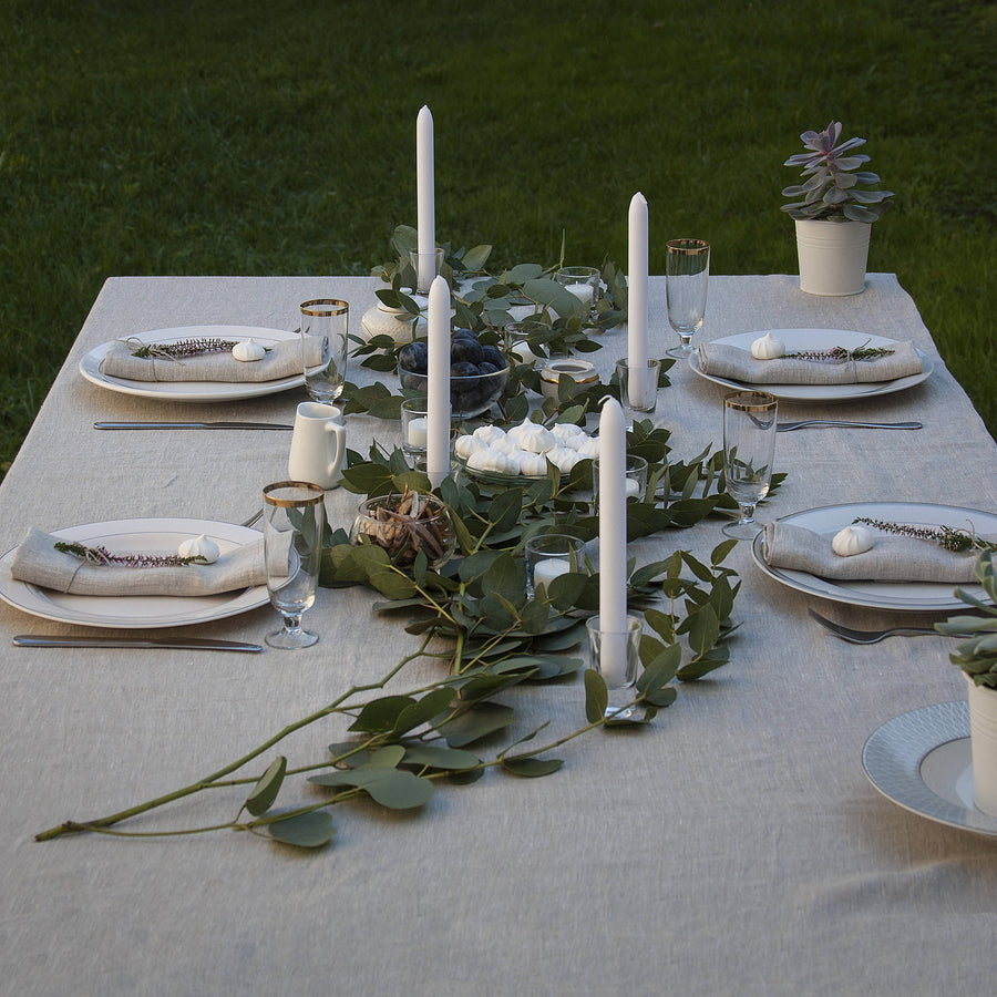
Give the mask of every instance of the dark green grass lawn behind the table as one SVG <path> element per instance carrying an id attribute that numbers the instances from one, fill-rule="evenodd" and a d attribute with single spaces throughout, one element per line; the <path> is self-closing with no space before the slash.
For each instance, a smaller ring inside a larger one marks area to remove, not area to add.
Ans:
<path id="1" fill-rule="evenodd" d="M 716 274 L 796 271 L 804 129 L 868 140 L 895 271 L 997 433 L 993 2 L 0 0 L 0 471 L 103 280 L 362 274 L 414 224 L 498 261 L 626 259 L 626 214 Z"/>

